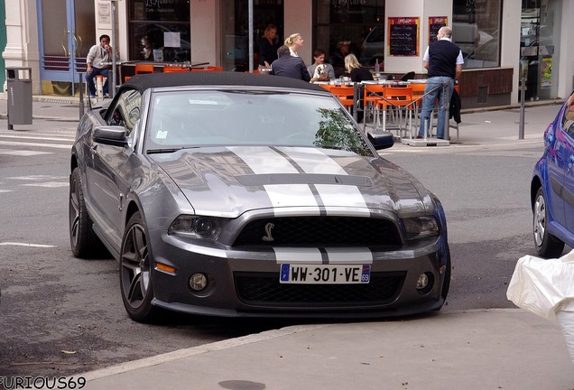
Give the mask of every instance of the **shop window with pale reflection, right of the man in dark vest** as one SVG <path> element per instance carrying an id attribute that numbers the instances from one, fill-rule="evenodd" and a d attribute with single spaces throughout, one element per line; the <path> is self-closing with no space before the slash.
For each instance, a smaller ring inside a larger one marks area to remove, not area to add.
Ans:
<path id="1" fill-rule="evenodd" d="M 500 66 L 501 0 L 454 0 L 452 38 L 465 59 L 463 69 Z"/>

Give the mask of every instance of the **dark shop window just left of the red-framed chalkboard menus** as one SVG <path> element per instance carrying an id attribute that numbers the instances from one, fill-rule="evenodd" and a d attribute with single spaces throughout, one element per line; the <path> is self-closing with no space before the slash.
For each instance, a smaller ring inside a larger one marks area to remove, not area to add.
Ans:
<path id="1" fill-rule="evenodd" d="M 337 76 L 344 71 L 343 59 L 348 53 L 354 53 L 364 65 L 378 60 L 384 69 L 384 0 L 315 0 L 313 14 L 313 50 L 327 52 Z"/>

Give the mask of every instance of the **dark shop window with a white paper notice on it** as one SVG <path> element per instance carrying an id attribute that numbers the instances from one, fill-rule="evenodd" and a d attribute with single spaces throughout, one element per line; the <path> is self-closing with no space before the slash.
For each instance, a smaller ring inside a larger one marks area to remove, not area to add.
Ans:
<path id="1" fill-rule="evenodd" d="M 129 2 L 130 60 L 191 60 L 190 1 Z"/>

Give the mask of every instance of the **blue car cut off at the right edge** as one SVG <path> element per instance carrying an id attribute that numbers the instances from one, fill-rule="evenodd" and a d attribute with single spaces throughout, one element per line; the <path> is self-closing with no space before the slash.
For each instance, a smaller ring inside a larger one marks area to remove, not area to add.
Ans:
<path id="1" fill-rule="evenodd" d="M 574 246 L 574 92 L 544 132 L 544 154 L 531 183 L 536 251 L 559 257 Z"/>

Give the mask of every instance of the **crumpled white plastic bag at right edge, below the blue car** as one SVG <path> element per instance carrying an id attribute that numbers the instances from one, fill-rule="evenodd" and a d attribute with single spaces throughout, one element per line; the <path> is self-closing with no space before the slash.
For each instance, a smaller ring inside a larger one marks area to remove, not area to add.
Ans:
<path id="1" fill-rule="evenodd" d="M 574 250 L 559 259 L 518 259 L 506 297 L 519 308 L 556 319 L 560 306 L 574 301 Z"/>

